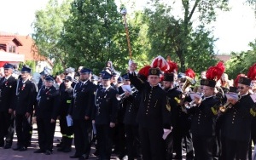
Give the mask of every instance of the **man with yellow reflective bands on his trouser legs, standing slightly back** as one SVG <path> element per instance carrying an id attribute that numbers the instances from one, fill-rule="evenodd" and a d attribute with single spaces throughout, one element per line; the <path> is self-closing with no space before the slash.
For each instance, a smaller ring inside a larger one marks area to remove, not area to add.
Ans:
<path id="1" fill-rule="evenodd" d="M 60 111 L 60 127 L 61 127 L 61 147 L 57 151 L 70 152 L 73 141 L 73 126 L 67 126 L 68 110 L 73 99 L 73 78 L 66 76 L 63 79 L 65 89 L 60 89 L 61 111 Z"/>

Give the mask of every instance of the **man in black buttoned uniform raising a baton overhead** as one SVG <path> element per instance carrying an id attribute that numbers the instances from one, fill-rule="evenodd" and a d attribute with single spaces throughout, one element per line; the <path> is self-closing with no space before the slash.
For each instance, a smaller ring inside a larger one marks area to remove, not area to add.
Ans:
<path id="1" fill-rule="evenodd" d="M 131 84 L 141 92 L 141 103 L 137 114 L 139 136 L 142 143 L 143 159 L 165 159 L 163 129 L 171 129 L 171 106 L 167 106 L 166 91 L 160 88 L 160 69 L 150 68 L 148 82 L 137 78 L 137 65 L 131 63 L 129 77 Z"/>

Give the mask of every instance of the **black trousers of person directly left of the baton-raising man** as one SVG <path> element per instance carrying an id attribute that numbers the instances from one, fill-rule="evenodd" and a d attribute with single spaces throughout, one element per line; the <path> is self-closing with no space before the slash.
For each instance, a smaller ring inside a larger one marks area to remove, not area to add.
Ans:
<path id="1" fill-rule="evenodd" d="M 125 124 L 125 134 L 127 156 L 129 160 L 132 160 L 139 154 L 140 142 L 138 137 L 138 126 Z"/>

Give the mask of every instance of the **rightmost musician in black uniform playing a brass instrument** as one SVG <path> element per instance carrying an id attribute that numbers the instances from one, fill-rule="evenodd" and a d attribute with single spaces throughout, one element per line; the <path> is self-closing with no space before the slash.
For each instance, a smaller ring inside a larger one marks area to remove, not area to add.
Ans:
<path id="1" fill-rule="evenodd" d="M 240 99 L 228 99 L 231 106 L 224 113 L 225 159 L 247 159 L 252 113 L 255 113 L 253 100 L 248 94 L 250 83 L 249 78 L 240 77 L 237 85 Z"/>

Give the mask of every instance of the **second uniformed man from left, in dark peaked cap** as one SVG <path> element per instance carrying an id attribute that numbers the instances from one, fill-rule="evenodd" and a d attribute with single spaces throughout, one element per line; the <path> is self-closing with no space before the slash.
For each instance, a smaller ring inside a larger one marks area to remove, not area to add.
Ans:
<path id="1" fill-rule="evenodd" d="M 18 143 L 15 151 L 26 151 L 29 145 L 31 116 L 35 101 L 36 86 L 29 80 L 31 69 L 21 68 L 21 78 L 16 88 L 15 123 Z"/>

